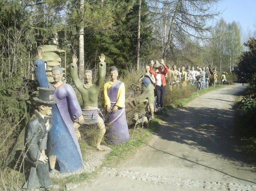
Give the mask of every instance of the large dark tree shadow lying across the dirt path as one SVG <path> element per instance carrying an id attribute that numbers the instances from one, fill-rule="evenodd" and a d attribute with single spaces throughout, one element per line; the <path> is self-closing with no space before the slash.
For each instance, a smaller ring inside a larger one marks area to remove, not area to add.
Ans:
<path id="1" fill-rule="evenodd" d="M 163 125 L 156 135 L 216 154 L 221 158 L 248 164 L 249 160 L 243 156 L 244 151 L 233 127 L 233 115 L 232 110 L 206 107 L 171 110 L 170 115 L 163 120 L 166 125 Z"/>

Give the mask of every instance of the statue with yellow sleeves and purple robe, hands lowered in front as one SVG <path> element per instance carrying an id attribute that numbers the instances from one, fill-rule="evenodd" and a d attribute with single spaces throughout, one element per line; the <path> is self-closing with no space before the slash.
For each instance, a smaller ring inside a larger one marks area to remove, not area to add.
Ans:
<path id="1" fill-rule="evenodd" d="M 104 84 L 104 106 L 108 116 L 108 139 L 112 144 L 126 142 L 130 139 L 125 113 L 125 87 L 117 80 L 118 69 L 110 67 L 111 80 Z"/>

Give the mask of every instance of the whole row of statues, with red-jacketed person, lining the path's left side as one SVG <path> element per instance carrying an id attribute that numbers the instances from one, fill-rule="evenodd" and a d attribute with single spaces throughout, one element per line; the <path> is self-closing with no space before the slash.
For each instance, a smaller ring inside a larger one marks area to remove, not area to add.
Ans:
<path id="1" fill-rule="evenodd" d="M 169 70 L 164 60 L 161 64 L 151 60 L 151 65 L 145 67 L 145 73 L 139 76 L 141 92 L 134 98 L 125 98 L 124 83 L 117 80 L 118 69 L 110 67 L 110 81 L 104 84 L 106 76 L 105 55 L 99 56 L 98 76 L 95 84 L 92 83 L 93 72 L 84 71 L 84 82 L 78 78 L 78 59 L 72 56 L 70 64 L 70 76 L 74 85 L 82 95 L 83 106 L 80 107 L 75 91 L 71 85 L 65 83 L 63 69 L 60 67 L 59 50 L 57 46 L 38 47 L 39 59 L 35 60 L 35 76 L 39 84 L 39 96 L 34 98 L 37 110 L 31 117 L 28 125 L 20 133 L 17 143 L 8 158 L 10 162 L 17 151 L 21 151 L 24 160 L 30 164 L 30 173 L 26 178 L 23 188 L 35 189 L 37 187 L 49 187 L 49 172 L 56 170 L 59 173 L 73 173 L 83 168 L 82 153 L 78 140 L 81 135 L 78 128 L 82 125 L 96 124 L 99 129 L 96 149 L 100 147 L 102 138 L 106 133 L 105 118 L 98 108 L 98 95 L 103 86 L 104 107 L 109 114 L 108 141 L 111 144 L 119 144 L 130 139 L 126 122 L 125 104 L 135 107 L 137 103 L 146 103 L 150 110 L 151 118 L 154 113 L 161 111 L 165 97 L 166 85 L 171 89 L 185 87 L 187 82 L 199 84 L 208 88 L 210 68 L 206 71 L 198 68 L 197 71 L 190 67 L 185 71 Z M 45 53 L 46 50 L 46 53 Z M 199 76 L 199 77 L 198 77 Z M 217 71 L 213 68 L 213 79 L 217 79 Z M 226 81 L 225 74 L 221 79 Z M 215 81 L 214 81 L 215 82 Z M 155 89 L 155 90 L 154 90 Z M 155 97 L 156 93 L 156 97 Z M 137 122 L 148 123 L 148 118 L 134 115 Z"/>

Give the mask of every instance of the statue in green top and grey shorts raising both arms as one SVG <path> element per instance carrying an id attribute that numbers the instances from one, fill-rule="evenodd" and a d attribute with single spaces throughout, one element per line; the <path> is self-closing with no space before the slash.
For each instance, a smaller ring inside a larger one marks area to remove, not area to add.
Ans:
<path id="1" fill-rule="evenodd" d="M 78 78 L 77 64 L 78 59 L 74 55 L 72 57 L 72 64 L 70 64 L 70 74 L 71 78 L 74 81 L 74 84 L 78 91 L 80 91 L 83 99 L 83 109 L 82 115 L 84 122 L 83 124 L 97 124 L 100 132 L 96 141 L 96 149 L 98 151 L 103 151 L 100 148 L 100 143 L 104 134 L 106 133 L 106 128 L 104 125 L 105 118 L 98 109 L 98 94 L 100 87 L 104 84 L 104 78 L 106 76 L 106 62 L 105 55 L 101 54 L 100 62 L 98 64 L 98 79 L 96 83 L 92 83 L 93 72 L 91 70 L 85 70 L 85 83 L 81 82 Z"/>

